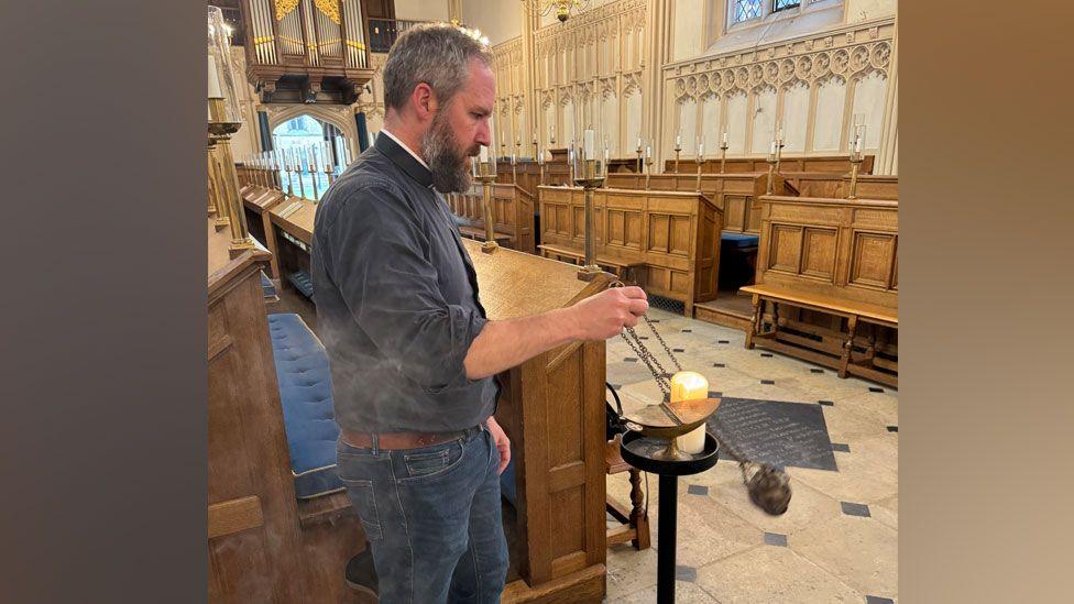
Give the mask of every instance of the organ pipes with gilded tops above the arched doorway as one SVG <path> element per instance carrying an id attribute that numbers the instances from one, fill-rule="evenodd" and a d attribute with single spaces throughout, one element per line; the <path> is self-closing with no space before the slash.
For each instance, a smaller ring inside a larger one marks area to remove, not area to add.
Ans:
<path id="1" fill-rule="evenodd" d="M 242 10 L 251 66 L 369 67 L 361 0 L 243 0 Z"/>

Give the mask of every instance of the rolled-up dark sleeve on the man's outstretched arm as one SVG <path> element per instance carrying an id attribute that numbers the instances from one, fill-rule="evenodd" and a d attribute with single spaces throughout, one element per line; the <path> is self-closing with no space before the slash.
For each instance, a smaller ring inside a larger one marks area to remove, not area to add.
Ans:
<path id="1" fill-rule="evenodd" d="M 386 184 L 348 196 L 328 224 L 332 277 L 354 321 L 387 362 L 427 392 L 472 383 L 464 360 L 487 321 L 447 304 L 428 257 L 429 235 Z"/>

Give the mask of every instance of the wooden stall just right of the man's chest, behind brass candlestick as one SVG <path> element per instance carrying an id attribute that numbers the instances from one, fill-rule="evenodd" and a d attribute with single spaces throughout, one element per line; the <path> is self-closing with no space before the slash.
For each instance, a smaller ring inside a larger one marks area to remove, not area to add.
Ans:
<path id="1" fill-rule="evenodd" d="M 471 239 L 483 241 L 485 222 L 481 186 L 475 185 L 473 191 L 469 194 L 449 195 L 447 200 L 452 213 L 469 221 L 470 229 L 467 231 L 460 229 L 460 231 Z M 496 216 L 493 230 L 507 235 L 507 244 L 513 250 L 537 253 L 534 197 L 522 187 L 494 183 L 492 204 Z"/>

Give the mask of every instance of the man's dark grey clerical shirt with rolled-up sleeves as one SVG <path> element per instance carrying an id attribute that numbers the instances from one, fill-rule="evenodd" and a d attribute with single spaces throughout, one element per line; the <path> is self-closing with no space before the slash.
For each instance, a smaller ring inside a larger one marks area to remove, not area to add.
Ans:
<path id="1" fill-rule="evenodd" d="M 432 174 L 377 136 L 317 207 L 317 321 L 340 427 L 452 431 L 495 410 L 463 360 L 484 327 L 478 279 Z"/>

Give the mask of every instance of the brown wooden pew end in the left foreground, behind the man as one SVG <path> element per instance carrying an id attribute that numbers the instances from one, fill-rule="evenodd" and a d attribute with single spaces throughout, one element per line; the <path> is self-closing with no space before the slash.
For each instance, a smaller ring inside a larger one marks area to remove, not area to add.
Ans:
<path id="1" fill-rule="evenodd" d="M 210 602 L 360 602 L 344 581 L 365 547 L 342 493 L 297 501 L 261 268 L 208 228 L 208 559 Z"/>

